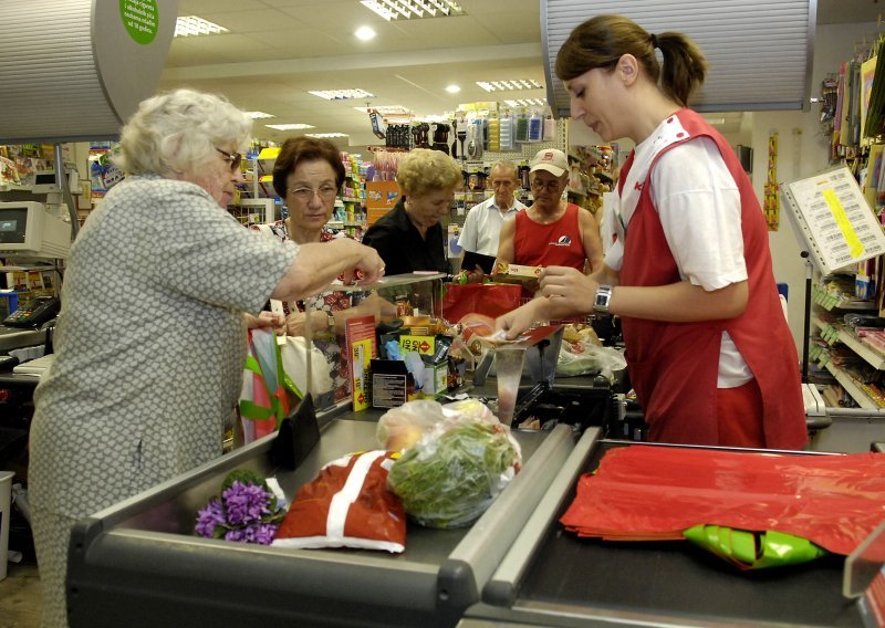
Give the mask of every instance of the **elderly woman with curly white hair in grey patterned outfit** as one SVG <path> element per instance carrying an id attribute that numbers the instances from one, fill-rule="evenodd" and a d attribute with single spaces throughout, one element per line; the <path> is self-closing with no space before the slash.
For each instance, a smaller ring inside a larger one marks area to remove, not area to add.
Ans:
<path id="1" fill-rule="evenodd" d="M 122 132 L 126 178 L 71 248 L 30 437 L 44 626 L 66 625 L 74 522 L 221 454 L 243 314 L 269 297 L 315 294 L 342 273 L 372 283 L 384 272 L 353 240 L 299 247 L 228 213 L 250 133 L 249 117 L 219 96 L 178 90 L 143 102 Z"/>

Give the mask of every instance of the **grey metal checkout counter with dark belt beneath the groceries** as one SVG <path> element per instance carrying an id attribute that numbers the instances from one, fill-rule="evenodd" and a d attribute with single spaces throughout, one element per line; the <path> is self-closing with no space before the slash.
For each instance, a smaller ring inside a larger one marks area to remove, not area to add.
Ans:
<path id="1" fill-rule="evenodd" d="M 491 386 L 471 394 L 488 396 Z M 293 471 L 274 467 L 281 432 L 270 435 L 79 522 L 70 625 L 862 626 L 856 601 L 841 595 L 839 557 L 741 573 L 687 542 L 610 543 L 564 532 L 559 517 L 579 477 L 608 449 L 632 444 L 605 438 L 611 397 L 593 383 L 523 385 L 514 425 L 545 408 L 574 422 L 513 430 L 524 465 L 491 507 L 465 528 L 409 522 L 399 555 L 195 536 L 197 510 L 230 470 L 274 475 L 291 499 L 324 463 L 376 448 L 382 410 L 321 416 L 319 443 Z"/>

